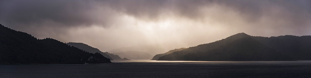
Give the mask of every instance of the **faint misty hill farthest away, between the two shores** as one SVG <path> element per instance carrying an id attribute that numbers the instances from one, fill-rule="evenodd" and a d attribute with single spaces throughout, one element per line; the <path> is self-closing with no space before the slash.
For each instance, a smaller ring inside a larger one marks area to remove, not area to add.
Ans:
<path id="1" fill-rule="evenodd" d="M 151 59 L 152 55 L 146 52 L 139 52 L 139 51 L 126 51 L 126 52 L 119 52 L 114 53 L 119 55 L 120 57 L 125 57 L 128 59 Z"/>

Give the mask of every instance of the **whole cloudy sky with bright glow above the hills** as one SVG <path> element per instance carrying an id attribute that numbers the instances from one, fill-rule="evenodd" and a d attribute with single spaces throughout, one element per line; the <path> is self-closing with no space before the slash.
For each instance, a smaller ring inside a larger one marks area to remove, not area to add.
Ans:
<path id="1" fill-rule="evenodd" d="M 311 0 L 0 0 L 0 24 L 110 51 L 188 48 L 237 33 L 311 35 Z"/>

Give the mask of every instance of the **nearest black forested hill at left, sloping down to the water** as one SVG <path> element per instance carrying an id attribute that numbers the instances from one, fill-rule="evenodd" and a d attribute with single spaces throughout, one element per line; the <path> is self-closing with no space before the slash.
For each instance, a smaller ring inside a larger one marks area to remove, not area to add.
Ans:
<path id="1" fill-rule="evenodd" d="M 111 63 L 100 53 L 88 53 L 55 39 L 37 39 L 0 24 L 0 64 Z"/>

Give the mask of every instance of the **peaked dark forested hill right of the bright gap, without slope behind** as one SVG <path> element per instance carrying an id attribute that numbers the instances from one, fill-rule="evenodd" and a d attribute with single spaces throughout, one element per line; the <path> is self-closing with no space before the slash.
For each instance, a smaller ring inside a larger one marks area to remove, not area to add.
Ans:
<path id="1" fill-rule="evenodd" d="M 261 37 L 260 37 L 261 38 Z M 261 41 L 260 41 L 261 40 Z M 275 40 L 275 39 L 273 39 Z M 184 61 L 293 61 L 296 57 L 270 47 L 263 39 L 245 33 L 232 35 L 209 44 L 201 44 L 159 57 L 158 60 Z M 273 42 L 273 41 L 272 41 Z M 284 42 L 287 43 L 287 42 Z M 294 42 L 296 43 L 296 42 Z M 273 46 L 284 46 L 275 44 Z M 291 46 L 286 44 L 286 46 Z M 291 46 L 298 47 L 298 46 Z M 290 49 L 291 50 L 291 49 Z M 309 54 L 308 49 L 304 49 Z M 292 52 L 295 53 L 295 52 Z M 302 56 L 303 57 L 303 56 Z M 308 59 L 308 57 L 305 57 Z M 310 58 L 310 57 L 309 57 Z M 303 59 L 303 60 L 307 60 Z"/>

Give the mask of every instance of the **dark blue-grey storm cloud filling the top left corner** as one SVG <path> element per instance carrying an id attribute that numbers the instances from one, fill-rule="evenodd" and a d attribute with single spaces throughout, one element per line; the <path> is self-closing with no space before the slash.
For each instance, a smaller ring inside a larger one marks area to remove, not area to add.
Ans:
<path id="1" fill-rule="evenodd" d="M 93 1 L 84 0 L 8 0 L 1 1 L 0 16 L 6 24 L 33 25 L 49 21 L 62 26 L 105 25 L 111 17 L 96 11 L 99 10 L 96 6 Z"/>

